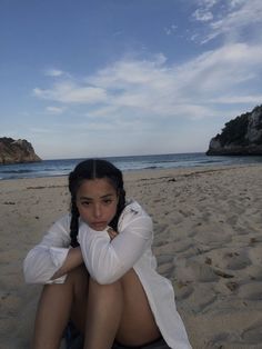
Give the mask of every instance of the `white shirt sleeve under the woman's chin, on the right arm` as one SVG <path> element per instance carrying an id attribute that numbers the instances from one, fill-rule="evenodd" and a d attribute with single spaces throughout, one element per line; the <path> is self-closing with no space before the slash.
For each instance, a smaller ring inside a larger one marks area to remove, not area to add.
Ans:
<path id="1" fill-rule="evenodd" d="M 120 218 L 119 235 L 111 241 L 107 230 L 81 223 L 79 243 L 91 277 L 101 285 L 120 279 L 141 258 L 152 241 L 152 220 L 135 203 Z"/>

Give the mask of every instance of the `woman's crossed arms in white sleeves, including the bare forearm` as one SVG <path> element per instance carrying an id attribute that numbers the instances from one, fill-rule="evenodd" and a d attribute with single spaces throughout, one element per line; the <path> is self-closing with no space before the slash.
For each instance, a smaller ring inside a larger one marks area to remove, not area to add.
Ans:
<path id="1" fill-rule="evenodd" d="M 67 273 L 84 262 L 99 283 L 111 283 L 130 270 L 151 242 L 152 222 L 148 216 L 135 216 L 120 229 L 94 231 L 82 222 L 78 248 L 68 248 L 67 221 L 58 221 L 24 260 L 29 283 L 61 283 Z"/>

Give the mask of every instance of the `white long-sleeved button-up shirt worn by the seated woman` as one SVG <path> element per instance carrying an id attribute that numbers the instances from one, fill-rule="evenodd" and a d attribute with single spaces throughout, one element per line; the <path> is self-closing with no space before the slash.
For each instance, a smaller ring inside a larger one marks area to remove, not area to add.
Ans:
<path id="1" fill-rule="evenodd" d="M 29 283 L 62 283 L 67 275 L 51 280 L 63 265 L 70 249 L 70 220 L 58 220 L 42 241 L 29 251 L 24 278 Z M 80 219 L 78 240 L 91 277 L 101 285 L 112 283 L 131 268 L 137 272 L 148 297 L 155 322 L 170 348 L 190 349 L 183 322 L 177 311 L 173 287 L 160 276 L 152 255 L 152 220 L 137 201 L 124 208 L 118 236 L 111 240 L 107 230 L 92 230 Z"/>

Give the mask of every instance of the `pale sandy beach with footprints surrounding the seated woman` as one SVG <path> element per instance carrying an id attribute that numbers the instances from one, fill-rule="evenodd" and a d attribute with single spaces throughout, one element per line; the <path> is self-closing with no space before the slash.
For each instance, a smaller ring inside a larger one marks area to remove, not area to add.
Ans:
<path id="1" fill-rule="evenodd" d="M 194 349 L 262 348 L 262 166 L 125 172 Z M 67 177 L 0 181 L 0 348 L 29 349 L 40 286 L 22 261 L 67 212 Z"/>

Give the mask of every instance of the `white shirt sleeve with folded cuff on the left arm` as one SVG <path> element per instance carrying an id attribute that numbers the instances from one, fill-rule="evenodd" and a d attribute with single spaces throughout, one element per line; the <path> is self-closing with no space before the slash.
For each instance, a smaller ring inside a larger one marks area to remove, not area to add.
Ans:
<path id="1" fill-rule="evenodd" d="M 42 241 L 32 248 L 23 262 L 23 273 L 28 283 L 62 283 L 67 276 L 51 280 L 56 271 L 63 265 L 70 245 L 70 217 L 58 220 L 43 237 Z"/>

